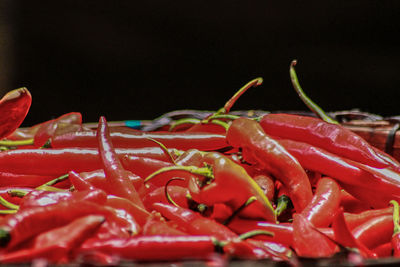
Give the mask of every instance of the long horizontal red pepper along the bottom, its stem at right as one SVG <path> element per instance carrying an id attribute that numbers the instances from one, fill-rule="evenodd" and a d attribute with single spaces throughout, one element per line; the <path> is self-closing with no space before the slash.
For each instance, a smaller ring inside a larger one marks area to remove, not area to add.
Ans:
<path id="1" fill-rule="evenodd" d="M 81 253 L 98 251 L 124 260 L 176 261 L 208 259 L 215 253 L 215 238 L 211 236 L 136 236 L 85 242 Z"/>

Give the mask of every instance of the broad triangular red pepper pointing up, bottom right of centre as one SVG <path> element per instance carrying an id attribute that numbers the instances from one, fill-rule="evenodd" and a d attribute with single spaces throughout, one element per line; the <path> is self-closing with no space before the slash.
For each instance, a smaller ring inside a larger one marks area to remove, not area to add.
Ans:
<path id="1" fill-rule="evenodd" d="M 337 245 L 301 214 L 293 215 L 293 248 L 301 257 L 331 257 Z"/>

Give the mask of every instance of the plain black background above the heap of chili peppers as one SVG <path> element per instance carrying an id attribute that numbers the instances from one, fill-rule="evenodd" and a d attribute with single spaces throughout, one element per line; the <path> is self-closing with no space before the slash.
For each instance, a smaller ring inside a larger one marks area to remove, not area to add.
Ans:
<path id="1" fill-rule="evenodd" d="M 2 0 L 0 0 L 2 1 Z M 9 89 L 33 95 L 24 125 L 234 109 L 306 110 L 289 64 L 326 111 L 398 115 L 400 1 L 3 1 Z M 11 42 L 11 41 L 10 41 Z"/>

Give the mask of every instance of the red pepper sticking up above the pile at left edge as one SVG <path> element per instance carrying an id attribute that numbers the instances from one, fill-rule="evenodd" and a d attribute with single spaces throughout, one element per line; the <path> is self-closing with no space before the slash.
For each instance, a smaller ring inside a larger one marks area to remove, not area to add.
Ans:
<path id="1" fill-rule="evenodd" d="M 25 87 L 12 90 L 0 99 L 0 139 L 6 138 L 21 125 L 31 103 L 31 93 Z"/>

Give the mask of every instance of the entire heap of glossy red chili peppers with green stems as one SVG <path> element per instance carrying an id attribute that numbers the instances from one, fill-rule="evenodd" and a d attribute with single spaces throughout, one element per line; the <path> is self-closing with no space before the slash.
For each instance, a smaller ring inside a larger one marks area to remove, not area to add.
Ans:
<path id="1" fill-rule="evenodd" d="M 152 131 L 79 112 L 20 127 L 0 100 L 0 263 L 270 260 L 400 255 L 400 163 L 327 119 L 233 115 Z M 214 262 L 215 264 L 215 262 Z"/>

